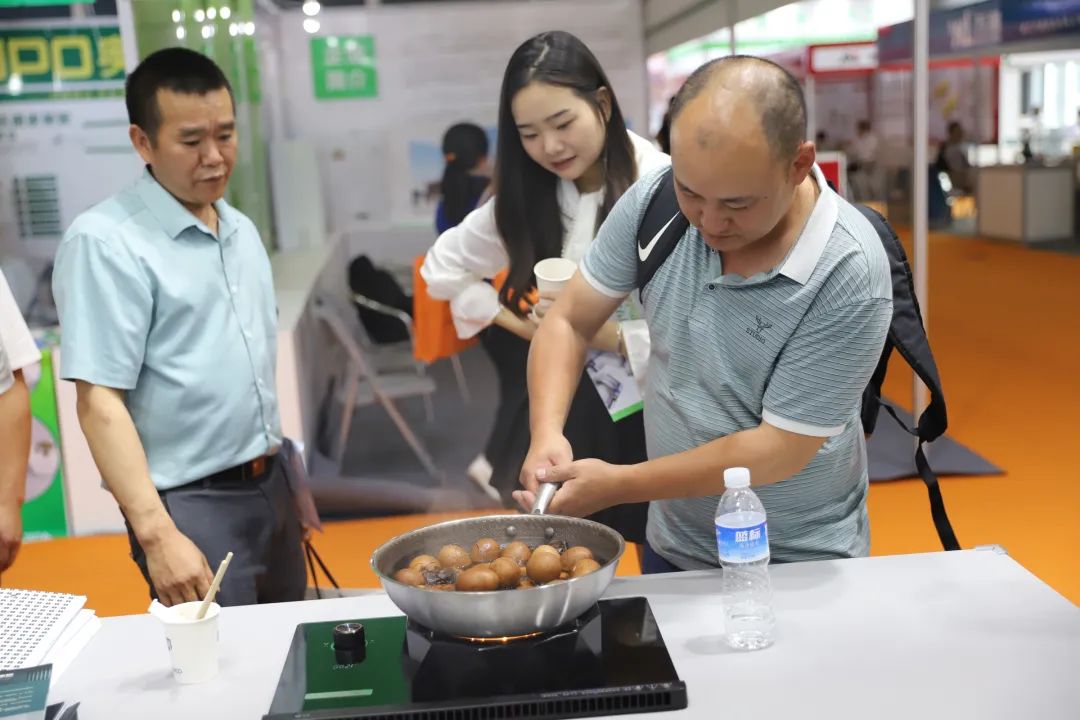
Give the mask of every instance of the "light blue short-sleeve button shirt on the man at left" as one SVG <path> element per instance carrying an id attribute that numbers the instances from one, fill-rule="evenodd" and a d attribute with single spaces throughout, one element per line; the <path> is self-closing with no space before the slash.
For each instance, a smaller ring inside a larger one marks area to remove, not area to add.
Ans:
<path id="1" fill-rule="evenodd" d="M 124 391 L 159 490 L 281 444 L 270 260 L 246 216 L 214 206 L 216 235 L 147 171 L 56 254 L 60 376 Z"/>

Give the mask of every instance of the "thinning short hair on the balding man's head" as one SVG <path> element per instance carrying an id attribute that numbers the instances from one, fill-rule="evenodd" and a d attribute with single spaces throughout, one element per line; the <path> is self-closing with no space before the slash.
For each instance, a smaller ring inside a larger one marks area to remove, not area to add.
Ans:
<path id="1" fill-rule="evenodd" d="M 773 154 L 784 160 L 795 155 L 799 144 L 807 139 L 807 101 L 802 89 L 792 73 L 772 60 L 753 55 L 728 55 L 705 63 L 694 70 L 675 94 L 672 101 L 672 124 L 696 97 L 708 87 L 718 73 L 746 65 L 764 70 L 753 99 L 761 118 L 761 130 Z"/>

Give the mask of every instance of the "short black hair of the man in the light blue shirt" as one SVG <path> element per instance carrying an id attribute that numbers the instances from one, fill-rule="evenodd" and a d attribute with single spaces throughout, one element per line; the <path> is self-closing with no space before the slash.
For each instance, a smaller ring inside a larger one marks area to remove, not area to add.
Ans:
<path id="1" fill-rule="evenodd" d="M 151 140 L 158 137 L 161 112 L 158 91 L 171 90 L 186 95 L 205 95 L 225 87 L 232 98 L 232 87 L 221 68 L 201 53 L 186 47 L 165 47 L 151 53 L 127 76 L 124 101 L 127 121 L 143 128 Z M 235 105 L 235 99 L 233 99 Z"/>

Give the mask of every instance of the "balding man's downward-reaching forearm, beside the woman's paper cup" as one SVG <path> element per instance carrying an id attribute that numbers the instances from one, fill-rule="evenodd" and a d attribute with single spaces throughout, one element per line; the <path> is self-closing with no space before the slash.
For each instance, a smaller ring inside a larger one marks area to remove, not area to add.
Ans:
<path id="1" fill-rule="evenodd" d="M 529 427 L 532 437 L 562 434 L 585 362 L 585 339 L 561 314 L 544 318 L 529 348 Z"/>

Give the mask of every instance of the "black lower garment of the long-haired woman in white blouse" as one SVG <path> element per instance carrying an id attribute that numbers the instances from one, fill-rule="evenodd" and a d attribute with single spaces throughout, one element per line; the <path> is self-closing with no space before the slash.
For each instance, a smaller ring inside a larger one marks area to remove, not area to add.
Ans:
<path id="1" fill-rule="evenodd" d="M 501 327 L 488 327 L 481 344 L 499 378 L 499 406 L 485 454 L 491 463 L 491 486 L 503 503 L 515 506 L 511 493 L 521 488 L 518 475 L 529 451 L 529 392 L 526 376 L 529 343 Z M 645 424 L 637 412 L 612 422 L 584 372 L 570 404 L 564 429 L 576 459 L 596 458 L 616 465 L 646 460 Z M 589 519 L 618 530 L 629 542 L 645 542 L 648 503 L 616 505 Z"/>

